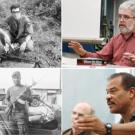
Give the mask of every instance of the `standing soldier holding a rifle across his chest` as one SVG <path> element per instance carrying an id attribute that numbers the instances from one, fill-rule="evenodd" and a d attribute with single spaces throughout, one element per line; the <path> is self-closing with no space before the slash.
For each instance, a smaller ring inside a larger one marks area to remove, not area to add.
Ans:
<path id="1" fill-rule="evenodd" d="M 31 91 L 29 87 L 21 84 L 21 74 L 16 71 L 12 75 L 14 86 L 7 91 L 6 101 L 10 108 L 9 128 L 14 135 L 27 135 L 28 127 L 28 102 L 32 101 Z M 17 131 L 16 131 L 17 129 Z"/>

